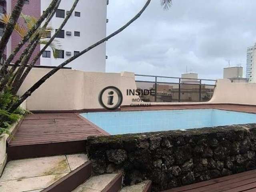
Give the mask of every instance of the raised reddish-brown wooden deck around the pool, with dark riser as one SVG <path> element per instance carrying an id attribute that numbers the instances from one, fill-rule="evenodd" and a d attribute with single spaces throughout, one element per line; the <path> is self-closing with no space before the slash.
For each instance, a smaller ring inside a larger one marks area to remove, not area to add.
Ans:
<path id="1" fill-rule="evenodd" d="M 256 106 L 227 104 L 121 107 L 121 111 L 205 108 L 256 113 Z M 16 159 L 84 152 L 87 137 L 101 135 L 108 133 L 76 113 L 31 114 L 16 128 L 14 138 L 8 142 L 8 157 Z"/>

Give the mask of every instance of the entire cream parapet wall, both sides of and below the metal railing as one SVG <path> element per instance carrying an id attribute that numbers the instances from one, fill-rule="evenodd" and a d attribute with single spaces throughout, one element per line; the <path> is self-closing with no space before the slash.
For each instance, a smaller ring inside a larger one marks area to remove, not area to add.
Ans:
<path id="1" fill-rule="evenodd" d="M 33 68 L 19 94 L 23 94 L 34 82 L 50 69 Z M 127 89 L 136 89 L 134 73 L 102 73 L 84 72 L 80 70 L 59 70 L 48 79 L 32 96 L 26 100 L 28 110 L 82 110 L 102 108 L 98 101 L 100 91 L 107 86 L 116 86 L 122 91 L 122 105 L 141 104 L 132 102 L 127 96 Z M 151 105 L 172 104 L 250 104 L 256 105 L 255 83 L 231 83 L 228 79 L 220 79 L 216 84 L 214 95 L 208 102 L 193 103 L 151 103 Z M 148 103 L 144 103 L 148 104 Z"/>

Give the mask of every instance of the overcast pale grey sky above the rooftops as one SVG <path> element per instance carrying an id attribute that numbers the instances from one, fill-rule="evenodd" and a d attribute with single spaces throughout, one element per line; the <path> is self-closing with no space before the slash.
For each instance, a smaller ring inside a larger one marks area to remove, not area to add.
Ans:
<path id="1" fill-rule="evenodd" d="M 110 0 L 107 34 L 132 18 L 146 0 Z M 199 78 L 222 78 L 223 68 L 245 70 L 246 48 L 256 41 L 255 0 L 160 0 L 126 30 L 108 40 L 106 71 L 177 76 L 190 69 Z"/>

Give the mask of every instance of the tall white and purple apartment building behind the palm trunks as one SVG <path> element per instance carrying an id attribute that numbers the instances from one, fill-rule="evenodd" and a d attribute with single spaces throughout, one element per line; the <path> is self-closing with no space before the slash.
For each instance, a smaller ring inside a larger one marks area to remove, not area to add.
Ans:
<path id="1" fill-rule="evenodd" d="M 16 1 L 17 0 L 0 0 L 0 12 L 11 13 Z M 26 0 L 22 12 L 39 18 L 50 2 L 51 0 Z M 54 29 L 51 34 L 49 34 L 49 37 L 59 28 L 66 14 L 72 7 L 73 2 L 73 0 L 61 1 L 56 14 L 48 25 Z M 52 50 L 47 48 L 36 64 L 43 66 L 58 66 L 66 59 L 78 54 L 83 49 L 106 37 L 107 4 L 108 0 L 80 0 L 67 24 L 60 34 L 58 34 L 58 37 L 55 38 L 58 41 L 58 44 L 60 44 L 58 48 L 60 50 L 58 58 L 54 58 Z M 23 19 L 20 18 L 18 22 L 19 24 L 26 26 Z M 4 26 L 0 26 L 0 35 L 3 27 Z M 7 57 L 20 40 L 20 36 L 14 32 L 6 48 Z M 42 47 L 43 45 L 38 45 L 35 52 L 38 52 Z M 15 60 L 21 54 L 22 50 L 20 50 Z M 105 72 L 106 43 L 90 50 L 67 66 L 84 71 Z"/>

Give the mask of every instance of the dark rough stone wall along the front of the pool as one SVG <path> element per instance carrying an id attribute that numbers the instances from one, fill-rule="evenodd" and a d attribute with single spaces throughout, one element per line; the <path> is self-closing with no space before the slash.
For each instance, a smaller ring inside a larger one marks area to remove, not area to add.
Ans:
<path id="1" fill-rule="evenodd" d="M 124 184 L 152 180 L 161 191 L 255 168 L 256 124 L 89 137 L 97 174 L 123 172 Z"/>

